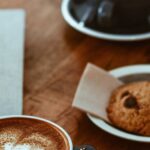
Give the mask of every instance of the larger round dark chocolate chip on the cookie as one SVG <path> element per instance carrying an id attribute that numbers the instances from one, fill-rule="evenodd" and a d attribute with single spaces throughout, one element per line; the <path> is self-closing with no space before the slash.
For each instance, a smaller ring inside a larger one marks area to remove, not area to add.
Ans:
<path id="1" fill-rule="evenodd" d="M 126 108 L 137 108 L 138 104 L 136 97 L 129 95 L 124 101 L 124 106 Z"/>

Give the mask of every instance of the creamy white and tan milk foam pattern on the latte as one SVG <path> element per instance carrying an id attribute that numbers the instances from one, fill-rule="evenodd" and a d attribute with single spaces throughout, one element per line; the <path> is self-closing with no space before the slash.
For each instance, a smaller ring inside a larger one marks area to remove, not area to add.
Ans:
<path id="1" fill-rule="evenodd" d="M 55 144 L 40 133 L 24 135 L 20 129 L 6 128 L 0 132 L 0 150 L 45 150 L 56 149 Z M 20 139 L 21 138 L 21 139 Z"/>

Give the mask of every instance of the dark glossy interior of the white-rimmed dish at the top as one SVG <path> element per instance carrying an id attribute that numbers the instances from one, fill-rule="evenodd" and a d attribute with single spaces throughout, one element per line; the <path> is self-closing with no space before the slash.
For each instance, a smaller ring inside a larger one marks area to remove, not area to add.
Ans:
<path id="1" fill-rule="evenodd" d="M 75 20 L 84 21 L 93 30 L 112 34 L 149 32 L 149 8 L 149 0 L 71 0 L 69 4 Z"/>

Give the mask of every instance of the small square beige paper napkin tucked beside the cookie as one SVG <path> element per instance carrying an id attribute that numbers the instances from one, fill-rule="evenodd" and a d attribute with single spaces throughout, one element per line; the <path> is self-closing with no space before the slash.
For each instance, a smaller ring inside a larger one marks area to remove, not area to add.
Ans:
<path id="1" fill-rule="evenodd" d="M 88 64 L 81 77 L 73 106 L 109 122 L 106 109 L 110 96 L 122 84 L 102 68 Z"/>

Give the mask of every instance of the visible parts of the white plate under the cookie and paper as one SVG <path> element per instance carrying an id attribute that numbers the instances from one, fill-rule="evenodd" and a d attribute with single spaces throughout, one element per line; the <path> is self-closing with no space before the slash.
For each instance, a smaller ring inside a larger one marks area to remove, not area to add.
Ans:
<path id="1" fill-rule="evenodd" d="M 150 81 L 150 65 L 135 65 L 135 66 L 127 66 L 118 69 L 114 69 L 110 71 L 110 74 L 115 76 L 116 78 L 124 78 L 127 82 L 137 81 L 137 80 L 149 80 Z M 138 74 L 138 76 L 137 76 Z M 128 78 L 127 78 L 128 76 Z M 126 77 L 126 78 L 125 78 Z M 132 79 L 132 80 L 131 80 Z M 127 140 L 137 141 L 137 142 L 150 142 L 150 137 L 135 135 L 131 133 L 127 133 L 125 131 L 119 130 L 105 121 L 96 118 L 90 114 L 87 114 L 89 119 L 99 128 L 104 131 L 115 135 L 120 138 L 124 138 Z"/>

